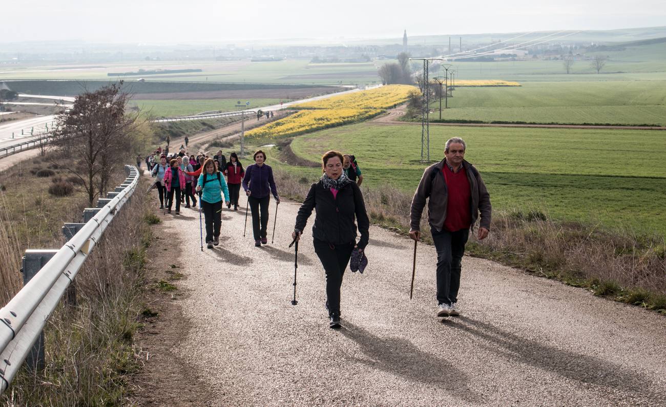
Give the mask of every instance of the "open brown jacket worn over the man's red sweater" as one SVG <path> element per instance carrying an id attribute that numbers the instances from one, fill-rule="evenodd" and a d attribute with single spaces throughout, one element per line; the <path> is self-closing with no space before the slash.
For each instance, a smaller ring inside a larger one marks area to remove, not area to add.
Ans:
<path id="1" fill-rule="evenodd" d="M 444 159 L 446 160 L 446 158 Z M 428 223 L 430 227 L 434 227 L 438 231 L 444 228 L 444 220 L 446 219 L 446 202 L 448 198 L 448 188 L 446 187 L 446 180 L 442 175 L 442 168 L 444 168 L 444 160 L 437 164 L 426 168 L 423 172 L 421 182 L 416 188 L 414 198 L 412 199 L 412 210 L 410 211 L 410 228 L 412 230 L 420 230 L 421 214 L 423 208 L 426 206 L 426 199 L 428 200 Z M 470 207 L 472 208 L 472 224 L 470 229 L 474 229 L 474 223 L 481 213 L 480 226 L 490 230 L 490 215 L 492 207 L 490 205 L 490 194 L 486 190 L 486 184 L 481 179 L 481 174 L 469 162 L 463 160 L 462 165 L 465 167 L 467 179 L 470 181 L 470 190 L 472 192 L 472 199 Z"/>

